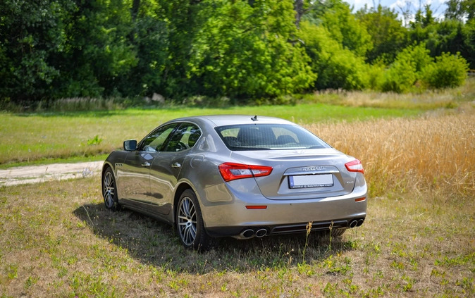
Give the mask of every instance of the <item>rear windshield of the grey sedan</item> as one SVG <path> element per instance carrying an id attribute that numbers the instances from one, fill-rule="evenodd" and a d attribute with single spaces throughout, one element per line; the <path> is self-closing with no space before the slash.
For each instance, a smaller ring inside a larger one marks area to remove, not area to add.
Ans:
<path id="1" fill-rule="evenodd" d="M 319 137 L 297 125 L 251 124 L 216 128 L 233 151 L 330 148 Z"/>

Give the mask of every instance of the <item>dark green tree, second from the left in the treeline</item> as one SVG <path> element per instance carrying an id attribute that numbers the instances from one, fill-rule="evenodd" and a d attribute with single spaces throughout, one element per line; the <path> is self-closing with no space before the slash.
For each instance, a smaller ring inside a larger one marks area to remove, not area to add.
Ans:
<path id="1" fill-rule="evenodd" d="M 130 3 L 121 0 L 77 1 L 66 29 L 68 47 L 59 57 L 61 97 L 123 95 L 121 84 L 137 55 L 128 35 L 132 30 Z"/>

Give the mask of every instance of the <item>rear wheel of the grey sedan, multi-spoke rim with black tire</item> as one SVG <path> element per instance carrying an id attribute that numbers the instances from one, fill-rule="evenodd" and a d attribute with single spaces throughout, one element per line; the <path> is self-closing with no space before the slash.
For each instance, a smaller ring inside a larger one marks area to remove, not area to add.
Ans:
<path id="1" fill-rule="evenodd" d="M 185 248 L 198 251 L 209 248 L 210 238 L 204 230 L 201 209 L 192 190 L 185 190 L 178 200 L 175 227 Z"/>

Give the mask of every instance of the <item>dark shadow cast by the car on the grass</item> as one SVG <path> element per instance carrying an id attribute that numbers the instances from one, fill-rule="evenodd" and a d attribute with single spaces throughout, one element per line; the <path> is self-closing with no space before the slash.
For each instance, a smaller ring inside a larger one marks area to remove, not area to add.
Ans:
<path id="1" fill-rule="evenodd" d="M 323 261 L 354 249 L 354 242 L 330 237 L 328 232 L 281 235 L 250 240 L 231 237 L 215 240 L 206 252 L 185 249 L 173 228 L 140 213 L 112 212 L 104 204 L 85 204 L 73 211 L 94 234 L 109 240 L 142 263 L 187 273 L 246 272 L 284 268 L 297 263 Z"/>

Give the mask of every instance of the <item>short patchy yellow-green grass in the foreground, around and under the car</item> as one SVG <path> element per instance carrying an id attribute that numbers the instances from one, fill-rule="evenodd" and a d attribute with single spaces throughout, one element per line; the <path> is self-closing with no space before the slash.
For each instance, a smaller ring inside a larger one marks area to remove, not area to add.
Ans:
<path id="1" fill-rule="evenodd" d="M 0 188 L 0 297 L 475 295 L 473 197 L 390 193 L 341 238 L 225 239 L 198 254 L 168 225 L 107 211 L 99 185 Z"/>

